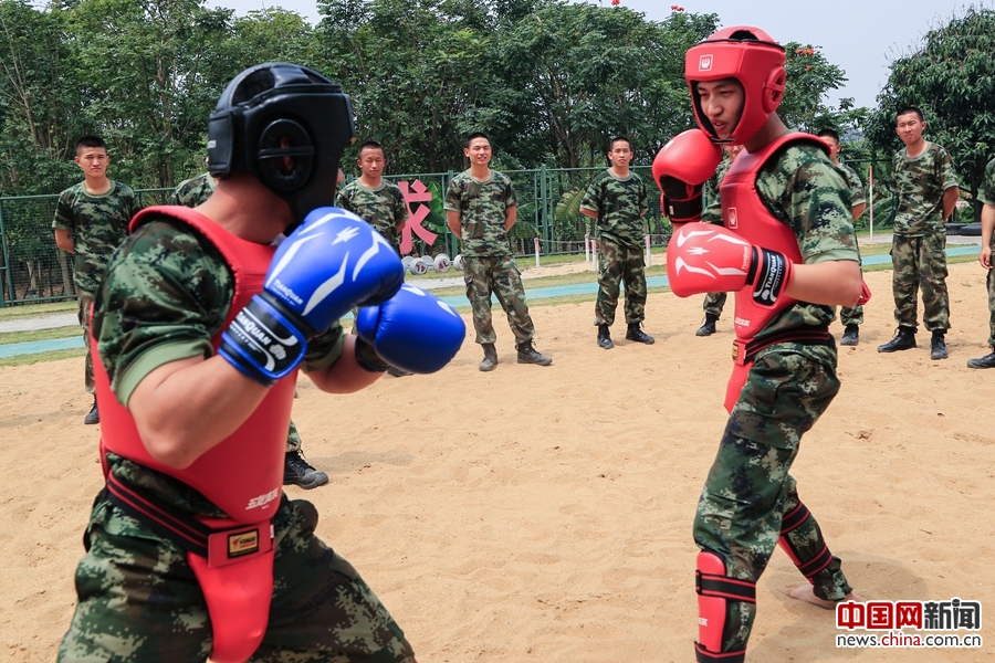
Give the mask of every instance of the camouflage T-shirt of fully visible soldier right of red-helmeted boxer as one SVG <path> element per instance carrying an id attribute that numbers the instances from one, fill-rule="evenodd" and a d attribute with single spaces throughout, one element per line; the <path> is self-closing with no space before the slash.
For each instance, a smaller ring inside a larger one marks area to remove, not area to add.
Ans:
<path id="1" fill-rule="evenodd" d="M 896 234 L 943 232 L 943 192 L 957 186 L 957 173 L 946 150 L 928 143 L 921 155 L 910 159 L 901 149 L 891 166 L 891 187 L 898 198 Z"/>

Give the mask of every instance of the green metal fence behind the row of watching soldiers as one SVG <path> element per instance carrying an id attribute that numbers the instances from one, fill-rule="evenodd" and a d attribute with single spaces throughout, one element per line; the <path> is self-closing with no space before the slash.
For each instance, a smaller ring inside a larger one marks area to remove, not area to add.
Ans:
<path id="1" fill-rule="evenodd" d="M 873 203 L 857 222 L 867 230 L 891 225 L 894 214 L 892 193 L 887 186 L 890 160 L 850 161 L 868 183 L 873 172 Z M 519 198 L 519 220 L 511 232 L 512 250 L 519 256 L 585 254 L 585 241 L 593 236 L 593 221 L 579 213 L 580 198 L 594 177 L 604 168 L 538 168 L 505 171 Z M 670 238 L 670 223 L 660 214 L 659 191 L 649 166 L 633 167 L 647 183 L 649 213 L 645 218 L 651 246 L 663 246 Z M 446 224 L 442 209 L 446 188 L 454 171 L 390 176 L 406 192 L 410 220 L 406 229 L 409 251 L 415 256 L 446 253 L 453 257 L 459 242 Z M 163 204 L 171 189 L 136 191 L 144 207 Z M 55 246 L 52 219 L 57 196 L 0 198 L 0 306 L 4 304 L 72 299 L 72 255 Z M 870 199 L 869 199 L 870 202 Z"/>

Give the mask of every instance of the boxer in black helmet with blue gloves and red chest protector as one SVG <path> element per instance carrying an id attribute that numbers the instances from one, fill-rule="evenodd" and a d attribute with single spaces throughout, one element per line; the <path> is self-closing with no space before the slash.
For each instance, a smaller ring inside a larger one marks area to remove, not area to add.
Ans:
<path id="1" fill-rule="evenodd" d="M 431 372 L 462 320 L 402 285 L 400 257 L 337 208 L 353 110 L 338 85 L 269 63 L 208 129 L 218 186 L 146 209 L 93 313 L 107 480 L 60 661 L 413 661 L 355 569 L 282 495 L 297 369 L 327 392 L 389 366 Z M 280 244 L 274 240 L 297 227 Z M 354 305 L 358 337 L 339 318 Z"/>

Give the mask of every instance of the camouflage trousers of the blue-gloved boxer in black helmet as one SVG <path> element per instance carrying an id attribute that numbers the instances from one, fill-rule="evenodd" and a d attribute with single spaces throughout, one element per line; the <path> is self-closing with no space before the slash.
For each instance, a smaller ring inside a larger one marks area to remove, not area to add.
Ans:
<path id="1" fill-rule="evenodd" d="M 276 513 L 273 603 L 253 662 L 413 663 L 404 632 L 345 559 L 314 536 L 305 501 Z M 76 611 L 60 662 L 202 663 L 211 622 L 186 552 L 105 501 L 76 569 Z"/>

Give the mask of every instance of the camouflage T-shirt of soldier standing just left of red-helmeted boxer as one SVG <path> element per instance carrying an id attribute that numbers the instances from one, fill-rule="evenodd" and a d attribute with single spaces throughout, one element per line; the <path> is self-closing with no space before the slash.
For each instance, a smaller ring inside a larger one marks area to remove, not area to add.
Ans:
<path id="1" fill-rule="evenodd" d="M 632 249 L 643 245 L 642 215 L 648 209 L 647 193 L 646 185 L 635 172 L 629 172 L 625 179 L 619 179 L 611 170 L 601 172 L 587 187 L 580 209 L 597 212 L 598 235 L 610 235 Z"/>

